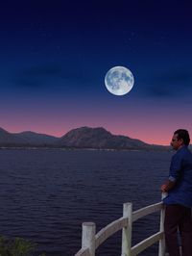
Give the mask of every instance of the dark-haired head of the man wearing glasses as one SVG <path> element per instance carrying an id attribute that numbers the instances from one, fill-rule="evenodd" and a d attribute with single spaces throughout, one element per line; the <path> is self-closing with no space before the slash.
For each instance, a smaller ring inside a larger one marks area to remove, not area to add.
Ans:
<path id="1" fill-rule="evenodd" d="M 171 145 L 178 150 L 182 145 L 188 145 L 190 142 L 189 133 L 187 130 L 179 129 L 174 132 Z"/>

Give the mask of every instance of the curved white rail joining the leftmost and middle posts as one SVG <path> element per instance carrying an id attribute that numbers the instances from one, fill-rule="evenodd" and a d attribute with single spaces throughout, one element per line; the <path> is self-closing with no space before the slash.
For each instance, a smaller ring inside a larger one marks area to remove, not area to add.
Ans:
<path id="1" fill-rule="evenodd" d="M 109 223 L 102 228 L 95 236 L 95 248 L 104 243 L 110 236 L 128 225 L 128 218 L 122 217 Z"/>

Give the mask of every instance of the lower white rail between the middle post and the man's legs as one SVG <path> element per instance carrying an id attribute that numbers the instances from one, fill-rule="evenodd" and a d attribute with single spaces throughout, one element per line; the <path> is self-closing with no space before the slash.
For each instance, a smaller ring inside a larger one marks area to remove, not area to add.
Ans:
<path id="1" fill-rule="evenodd" d="M 141 251 L 145 250 L 146 248 L 150 247 L 152 244 L 158 242 L 163 238 L 163 232 L 157 232 L 153 236 L 137 243 L 136 245 L 132 246 L 132 256 L 137 255 Z"/>

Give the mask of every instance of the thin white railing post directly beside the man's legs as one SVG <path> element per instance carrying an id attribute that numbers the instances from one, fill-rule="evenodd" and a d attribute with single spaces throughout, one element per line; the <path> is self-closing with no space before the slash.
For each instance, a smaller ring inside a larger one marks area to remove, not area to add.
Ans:
<path id="1" fill-rule="evenodd" d="M 166 192 L 162 192 L 161 199 L 167 196 Z M 160 231 L 163 232 L 163 238 L 159 241 L 158 245 L 158 256 L 165 255 L 165 235 L 164 235 L 164 218 L 165 218 L 165 209 L 164 206 L 160 210 Z"/>

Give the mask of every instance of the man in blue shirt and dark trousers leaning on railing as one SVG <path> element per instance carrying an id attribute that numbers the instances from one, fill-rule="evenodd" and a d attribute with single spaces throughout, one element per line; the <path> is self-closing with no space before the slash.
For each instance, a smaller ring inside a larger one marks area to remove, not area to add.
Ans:
<path id="1" fill-rule="evenodd" d="M 170 256 L 180 256 L 178 230 L 182 256 L 192 256 L 192 153 L 188 149 L 189 142 L 186 130 L 174 133 L 171 145 L 177 152 L 172 157 L 169 179 L 161 186 L 162 192 L 168 192 L 163 203 L 165 242 Z"/>

